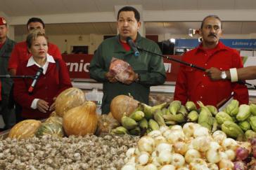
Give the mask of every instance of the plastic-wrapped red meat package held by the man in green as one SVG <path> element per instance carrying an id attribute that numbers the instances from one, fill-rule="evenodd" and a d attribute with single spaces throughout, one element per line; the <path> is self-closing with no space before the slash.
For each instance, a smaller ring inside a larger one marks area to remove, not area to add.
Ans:
<path id="1" fill-rule="evenodd" d="M 124 83 L 130 76 L 132 70 L 132 66 L 129 65 L 129 63 L 124 62 L 122 59 L 117 59 L 113 57 L 111 60 L 110 73 L 115 75 L 115 78 Z"/>

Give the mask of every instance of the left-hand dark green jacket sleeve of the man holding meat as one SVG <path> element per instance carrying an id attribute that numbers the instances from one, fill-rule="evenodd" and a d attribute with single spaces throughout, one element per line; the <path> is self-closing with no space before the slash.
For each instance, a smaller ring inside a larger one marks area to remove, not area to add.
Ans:
<path id="1" fill-rule="evenodd" d="M 105 73 L 108 72 L 108 69 L 105 69 L 105 62 L 102 55 L 102 44 L 96 50 L 94 57 L 91 59 L 89 66 L 90 77 L 98 82 L 104 82 Z"/>

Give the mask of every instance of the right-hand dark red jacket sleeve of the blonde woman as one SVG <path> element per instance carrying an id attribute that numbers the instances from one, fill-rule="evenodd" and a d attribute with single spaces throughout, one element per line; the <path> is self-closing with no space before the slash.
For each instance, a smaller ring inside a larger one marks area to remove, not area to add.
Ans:
<path id="1" fill-rule="evenodd" d="M 69 87 L 72 87 L 72 84 L 70 81 L 70 75 L 65 62 L 63 61 L 63 59 L 58 59 L 58 62 L 60 66 L 60 70 L 59 70 L 60 89 L 58 90 L 58 93 L 56 94 L 56 96 L 58 96 L 60 92 L 63 92 L 63 90 L 66 90 Z"/>

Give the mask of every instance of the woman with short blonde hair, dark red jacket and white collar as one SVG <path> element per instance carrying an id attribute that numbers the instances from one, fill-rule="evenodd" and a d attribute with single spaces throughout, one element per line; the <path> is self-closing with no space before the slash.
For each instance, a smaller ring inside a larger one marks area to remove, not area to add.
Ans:
<path id="1" fill-rule="evenodd" d="M 67 66 L 63 59 L 54 59 L 48 53 L 48 40 L 41 29 L 30 31 L 27 36 L 27 50 L 31 57 L 20 62 L 17 75 L 36 75 L 39 68 L 43 69 L 34 90 L 29 94 L 28 89 L 33 79 L 23 78 L 14 80 L 14 99 L 22 106 L 21 118 L 48 118 L 55 110 L 54 100 L 63 90 L 72 87 Z"/>

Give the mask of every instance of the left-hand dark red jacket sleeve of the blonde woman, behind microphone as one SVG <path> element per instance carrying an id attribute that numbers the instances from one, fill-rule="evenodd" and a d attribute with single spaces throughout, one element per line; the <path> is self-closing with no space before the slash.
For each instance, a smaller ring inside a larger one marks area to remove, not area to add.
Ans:
<path id="1" fill-rule="evenodd" d="M 23 66 L 23 64 L 18 66 L 17 69 L 17 75 L 27 75 L 25 71 L 27 68 L 26 66 Z M 13 96 L 15 101 L 17 101 L 18 104 L 25 108 L 30 108 L 32 101 L 35 99 L 27 92 L 27 85 L 25 83 L 25 78 L 14 78 L 14 86 L 13 86 Z"/>

